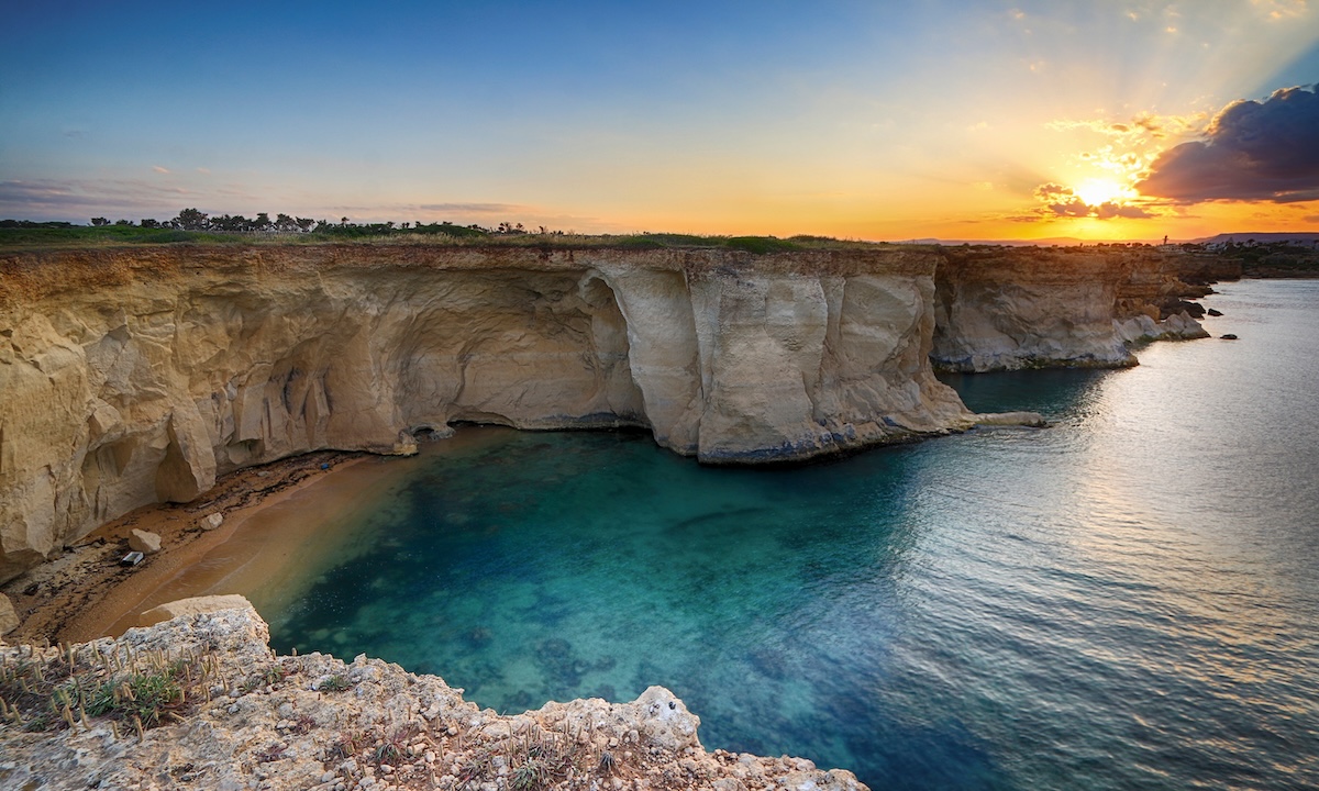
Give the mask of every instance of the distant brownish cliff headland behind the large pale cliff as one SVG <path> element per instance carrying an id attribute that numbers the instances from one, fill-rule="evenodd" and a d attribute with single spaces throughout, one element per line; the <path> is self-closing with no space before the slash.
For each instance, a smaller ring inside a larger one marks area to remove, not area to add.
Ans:
<path id="1" fill-rule="evenodd" d="M 1182 299 L 1217 272 L 1144 245 L 947 248 L 931 359 L 958 372 L 1136 365 L 1133 344 L 1206 336 Z"/>

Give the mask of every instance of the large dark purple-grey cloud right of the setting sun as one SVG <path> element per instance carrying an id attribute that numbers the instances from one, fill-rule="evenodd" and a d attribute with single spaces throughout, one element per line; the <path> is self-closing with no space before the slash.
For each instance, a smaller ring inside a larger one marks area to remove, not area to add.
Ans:
<path id="1" fill-rule="evenodd" d="M 1204 140 L 1159 154 L 1136 189 L 1178 203 L 1319 200 L 1319 95 L 1285 88 L 1227 105 Z"/>

